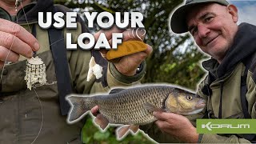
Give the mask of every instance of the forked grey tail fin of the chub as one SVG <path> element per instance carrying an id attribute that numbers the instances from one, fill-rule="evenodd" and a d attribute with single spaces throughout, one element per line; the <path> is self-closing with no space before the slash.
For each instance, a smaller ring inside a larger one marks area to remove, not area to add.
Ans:
<path id="1" fill-rule="evenodd" d="M 72 108 L 70 109 L 70 113 L 68 116 L 68 122 L 73 122 L 78 120 L 78 118 L 82 118 L 81 116 L 86 113 L 86 111 L 90 110 L 89 106 L 85 106 L 84 97 L 79 96 L 69 96 L 66 97 L 69 100 Z"/>

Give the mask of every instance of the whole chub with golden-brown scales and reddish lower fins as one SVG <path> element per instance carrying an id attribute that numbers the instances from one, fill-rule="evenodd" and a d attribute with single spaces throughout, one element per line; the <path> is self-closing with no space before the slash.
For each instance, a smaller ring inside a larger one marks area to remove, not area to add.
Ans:
<path id="1" fill-rule="evenodd" d="M 114 89 L 106 95 L 75 95 L 66 99 L 72 106 L 67 121 L 77 122 L 94 106 L 99 106 L 102 122 L 96 122 L 105 129 L 108 123 L 129 125 L 118 130 L 118 138 L 127 130 L 136 132 L 138 126 L 157 119 L 153 111 L 166 111 L 176 114 L 197 114 L 206 106 L 206 101 L 198 94 L 174 86 L 141 85 L 127 89 Z M 98 117 L 98 116 L 97 116 Z M 121 134 L 122 133 L 122 134 Z"/>

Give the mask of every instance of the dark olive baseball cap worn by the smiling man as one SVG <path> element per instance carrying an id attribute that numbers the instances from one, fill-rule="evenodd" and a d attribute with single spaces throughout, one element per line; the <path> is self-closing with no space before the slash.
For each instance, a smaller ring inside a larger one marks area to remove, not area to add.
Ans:
<path id="1" fill-rule="evenodd" d="M 228 6 L 229 2 L 225 0 L 186 0 L 184 6 L 179 7 L 174 11 L 170 19 L 170 27 L 174 33 L 182 34 L 188 31 L 186 25 L 186 14 L 188 10 L 193 9 L 194 6 L 202 3 L 216 2 L 224 6 Z"/>

